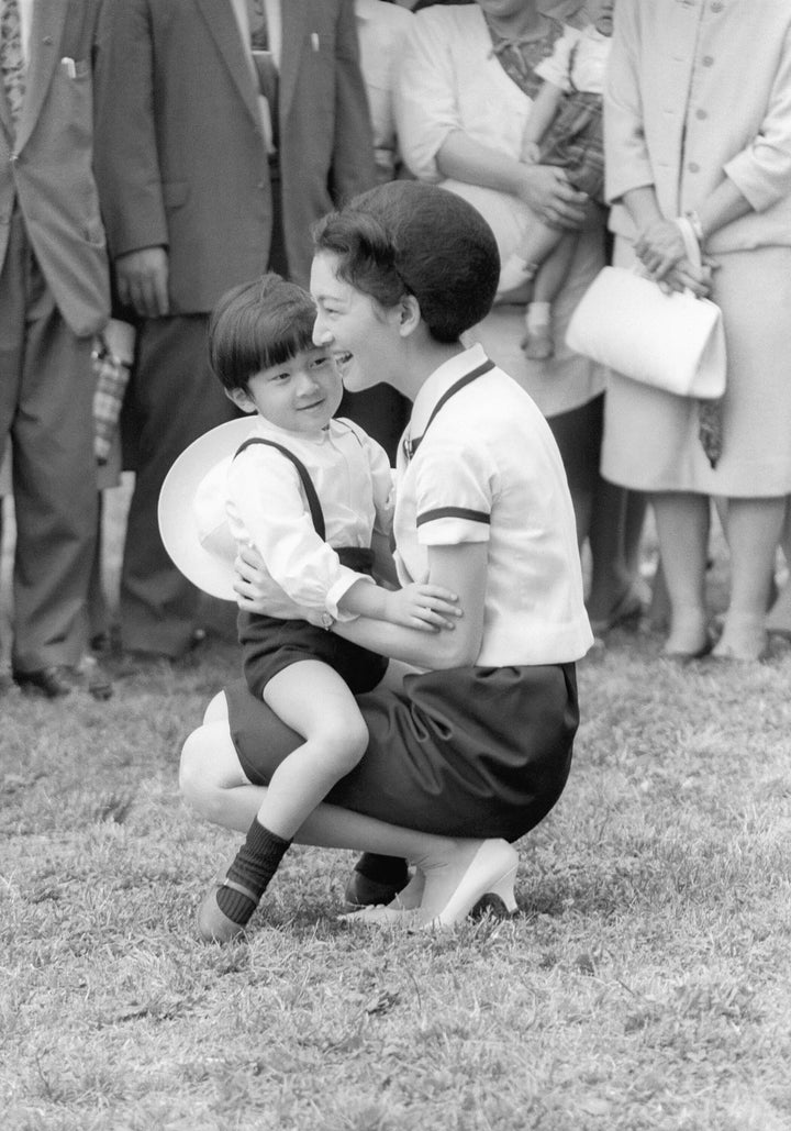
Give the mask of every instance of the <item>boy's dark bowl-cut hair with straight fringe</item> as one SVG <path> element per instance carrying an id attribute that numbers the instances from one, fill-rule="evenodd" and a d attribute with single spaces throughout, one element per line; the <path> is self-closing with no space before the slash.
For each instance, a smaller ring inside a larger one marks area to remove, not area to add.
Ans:
<path id="1" fill-rule="evenodd" d="M 246 391 L 251 377 L 313 346 L 315 303 L 296 283 L 269 274 L 227 291 L 209 320 L 209 363 L 223 387 Z"/>

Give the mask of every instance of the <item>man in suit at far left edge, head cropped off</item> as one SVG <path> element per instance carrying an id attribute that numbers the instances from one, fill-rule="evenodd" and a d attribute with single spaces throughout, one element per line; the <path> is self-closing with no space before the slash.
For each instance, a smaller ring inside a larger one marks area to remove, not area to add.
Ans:
<path id="1" fill-rule="evenodd" d="M 97 521 L 93 335 L 107 321 L 92 173 L 101 0 L 0 2 L 0 463 L 17 543 L 11 670 L 71 690 L 87 647 Z"/>

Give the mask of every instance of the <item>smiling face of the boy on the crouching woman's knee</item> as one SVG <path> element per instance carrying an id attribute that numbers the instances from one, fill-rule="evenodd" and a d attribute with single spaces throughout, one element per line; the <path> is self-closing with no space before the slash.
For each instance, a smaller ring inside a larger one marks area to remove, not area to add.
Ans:
<path id="1" fill-rule="evenodd" d="M 234 395 L 235 394 L 235 395 Z M 340 373 L 328 349 L 301 349 L 281 365 L 255 373 L 229 394 L 245 412 L 258 412 L 288 432 L 320 432 L 336 414 L 344 394 Z"/>

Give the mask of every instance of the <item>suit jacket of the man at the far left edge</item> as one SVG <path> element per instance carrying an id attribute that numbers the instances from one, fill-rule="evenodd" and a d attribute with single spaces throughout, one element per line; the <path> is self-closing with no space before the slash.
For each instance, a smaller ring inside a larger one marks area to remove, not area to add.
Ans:
<path id="1" fill-rule="evenodd" d="M 55 303 L 78 336 L 110 310 L 107 256 L 92 172 L 92 77 L 102 0 L 35 0 L 16 138 L 0 83 L 0 265 L 15 207 Z"/>

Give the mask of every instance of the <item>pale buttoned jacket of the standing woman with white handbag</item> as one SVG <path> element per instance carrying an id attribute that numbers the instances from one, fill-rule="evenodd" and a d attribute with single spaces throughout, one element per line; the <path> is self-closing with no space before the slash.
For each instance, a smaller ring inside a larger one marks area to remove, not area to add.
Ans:
<path id="1" fill-rule="evenodd" d="M 730 178 L 753 211 L 711 251 L 791 244 L 791 2 L 618 0 L 605 88 L 610 226 L 617 201 L 653 184 L 667 217 Z"/>

